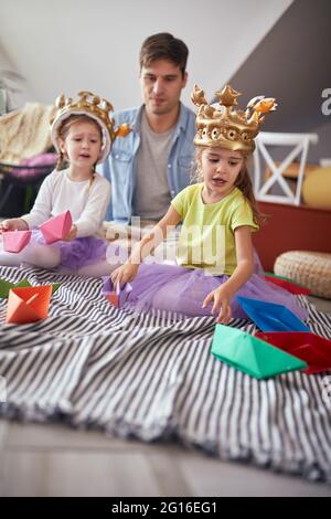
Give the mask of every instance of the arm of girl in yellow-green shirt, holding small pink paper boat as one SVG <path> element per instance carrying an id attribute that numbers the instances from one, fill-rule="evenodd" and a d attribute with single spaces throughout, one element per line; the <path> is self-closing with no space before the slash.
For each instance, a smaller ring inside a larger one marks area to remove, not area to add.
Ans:
<path id="1" fill-rule="evenodd" d="M 134 279 L 137 275 L 138 268 L 142 260 L 151 254 L 157 246 L 163 242 L 168 232 L 178 225 L 181 221 L 181 215 L 177 210 L 170 205 L 167 214 L 157 223 L 157 225 L 143 239 L 134 245 L 131 255 L 126 263 L 116 268 L 110 275 L 114 285 L 119 283 L 122 287 L 126 283 Z"/>

